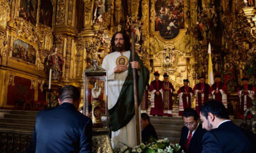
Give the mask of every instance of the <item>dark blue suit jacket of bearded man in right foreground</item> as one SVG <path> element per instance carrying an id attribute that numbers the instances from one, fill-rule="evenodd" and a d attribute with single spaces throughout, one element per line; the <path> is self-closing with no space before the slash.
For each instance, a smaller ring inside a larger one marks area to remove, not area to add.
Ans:
<path id="1" fill-rule="evenodd" d="M 251 147 L 243 131 L 228 121 L 205 133 L 202 153 L 251 153 Z"/>

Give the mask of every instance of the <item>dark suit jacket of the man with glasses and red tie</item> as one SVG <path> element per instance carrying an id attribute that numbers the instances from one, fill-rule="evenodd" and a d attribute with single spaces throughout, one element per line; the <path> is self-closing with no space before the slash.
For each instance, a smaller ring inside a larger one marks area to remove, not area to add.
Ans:
<path id="1" fill-rule="evenodd" d="M 204 133 L 206 132 L 205 129 L 202 128 L 202 124 L 198 123 L 199 126 L 197 127 L 195 133 L 193 134 L 190 142 L 189 142 L 189 153 L 200 153 L 202 151 L 202 138 Z M 180 133 L 180 147 L 184 150 L 184 145 L 186 143 L 188 137 L 189 129 L 186 126 L 183 126 Z"/>

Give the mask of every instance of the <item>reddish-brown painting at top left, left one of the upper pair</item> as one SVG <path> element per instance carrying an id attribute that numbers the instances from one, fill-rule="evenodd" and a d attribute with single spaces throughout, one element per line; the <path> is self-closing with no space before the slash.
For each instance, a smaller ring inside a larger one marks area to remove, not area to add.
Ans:
<path id="1" fill-rule="evenodd" d="M 33 25 L 36 25 L 38 0 L 20 0 L 20 14 L 19 17 L 24 18 Z"/>

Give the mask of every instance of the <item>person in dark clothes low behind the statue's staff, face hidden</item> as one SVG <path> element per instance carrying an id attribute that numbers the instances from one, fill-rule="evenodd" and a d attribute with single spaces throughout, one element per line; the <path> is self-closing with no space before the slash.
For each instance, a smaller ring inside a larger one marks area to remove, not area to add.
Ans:
<path id="1" fill-rule="evenodd" d="M 156 130 L 150 124 L 150 118 L 147 113 L 141 113 L 141 129 L 141 140 L 143 143 L 152 143 L 158 139 Z"/>

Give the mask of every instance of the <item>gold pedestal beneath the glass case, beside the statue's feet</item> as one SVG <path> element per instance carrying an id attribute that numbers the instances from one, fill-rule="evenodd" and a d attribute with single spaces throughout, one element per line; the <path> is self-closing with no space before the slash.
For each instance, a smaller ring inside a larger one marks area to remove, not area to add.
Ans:
<path id="1" fill-rule="evenodd" d="M 111 147 L 111 140 L 109 138 L 109 129 L 92 129 L 92 152 L 95 153 L 113 153 L 113 149 Z"/>

